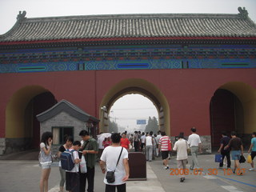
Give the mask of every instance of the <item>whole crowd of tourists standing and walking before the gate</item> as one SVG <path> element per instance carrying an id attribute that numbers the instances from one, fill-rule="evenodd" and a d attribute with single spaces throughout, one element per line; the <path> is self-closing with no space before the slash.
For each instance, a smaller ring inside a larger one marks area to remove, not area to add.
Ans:
<path id="1" fill-rule="evenodd" d="M 188 163 L 188 154 L 192 156 L 190 162 L 190 170 L 200 170 L 198 162 L 198 153 L 202 153 L 202 142 L 199 135 L 196 133 L 196 128 L 190 129 L 191 134 L 186 139 L 184 133 L 178 135 L 177 141 L 172 142 L 170 137 L 164 131 L 158 131 L 154 134 L 141 133 L 134 131 L 134 134 L 126 132 L 119 133 L 102 133 L 94 139 L 86 130 L 82 130 L 79 134 L 82 141 L 74 141 L 70 136 L 66 136 L 65 143 L 59 147 L 58 158 L 62 157 L 66 151 L 72 155 L 74 167 L 70 170 L 63 169 L 63 162 L 59 162 L 60 172 L 60 189 L 59 191 L 85 192 L 86 183 L 87 191 L 94 191 L 94 174 L 95 165 L 99 162 L 104 183 L 106 184 L 106 192 L 118 190 L 118 192 L 126 191 L 126 181 L 130 176 L 130 167 L 128 163 L 128 153 L 130 150 L 142 152 L 146 155 L 146 161 L 151 162 L 155 158 L 162 157 L 164 169 L 169 169 L 170 151 L 177 152 L 178 170 L 186 170 Z M 40 143 L 39 162 L 42 166 L 42 175 L 40 180 L 40 191 L 48 191 L 48 178 L 50 175 L 50 167 L 52 164 L 51 147 L 53 143 L 53 134 L 45 132 L 42 134 Z M 220 147 L 218 153 L 222 154 L 222 161 L 219 163 L 219 168 L 222 168 L 226 161 L 227 168 L 231 168 L 230 154 L 234 160 L 234 172 L 240 169 L 239 160 L 243 155 L 244 149 L 242 139 L 238 138 L 235 132 L 231 133 L 231 138 L 222 133 L 220 139 Z M 254 157 L 256 155 L 256 132 L 252 134 L 250 148 L 248 150 L 251 158 L 250 171 L 254 170 Z M 83 160 L 84 158 L 84 160 Z M 86 170 L 82 168 L 82 161 L 86 163 Z M 239 173 L 242 175 L 242 173 Z M 185 174 L 180 174 L 180 182 L 185 181 Z M 66 187 L 64 187 L 66 183 Z"/>

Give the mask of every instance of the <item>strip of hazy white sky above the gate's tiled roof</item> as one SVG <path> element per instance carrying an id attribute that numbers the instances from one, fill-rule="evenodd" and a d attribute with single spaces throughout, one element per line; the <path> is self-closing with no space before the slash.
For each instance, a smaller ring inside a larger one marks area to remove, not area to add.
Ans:
<path id="1" fill-rule="evenodd" d="M 19 10 L 27 18 L 86 14 L 238 14 L 245 6 L 256 22 L 256 0 L 0 0 L 0 34 L 14 26 Z"/>

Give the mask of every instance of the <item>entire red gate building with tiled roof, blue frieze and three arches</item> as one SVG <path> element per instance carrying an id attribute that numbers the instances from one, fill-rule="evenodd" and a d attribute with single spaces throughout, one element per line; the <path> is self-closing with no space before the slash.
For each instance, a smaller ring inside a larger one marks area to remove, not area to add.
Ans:
<path id="1" fill-rule="evenodd" d="M 26 18 L 0 35 L 0 154 L 38 148 L 37 114 L 65 99 L 101 120 L 142 94 L 170 136 L 195 126 L 205 152 L 221 131 L 256 127 L 256 25 L 238 14 Z M 103 107 L 104 106 L 104 107 Z M 102 110 L 103 109 L 103 110 Z"/>

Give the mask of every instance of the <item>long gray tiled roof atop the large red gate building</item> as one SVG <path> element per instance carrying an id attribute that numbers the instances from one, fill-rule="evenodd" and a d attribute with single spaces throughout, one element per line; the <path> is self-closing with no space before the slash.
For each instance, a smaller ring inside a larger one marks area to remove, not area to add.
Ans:
<path id="1" fill-rule="evenodd" d="M 239 10 L 239 9 L 238 9 Z M 256 25 L 246 10 L 239 14 L 119 14 L 18 21 L 0 42 L 100 38 L 255 38 Z"/>

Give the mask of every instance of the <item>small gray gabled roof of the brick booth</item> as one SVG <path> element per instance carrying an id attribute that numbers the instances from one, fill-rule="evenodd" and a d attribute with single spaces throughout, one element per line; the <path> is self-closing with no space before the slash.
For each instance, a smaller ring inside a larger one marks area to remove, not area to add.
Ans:
<path id="1" fill-rule="evenodd" d="M 38 114 L 38 121 L 44 122 L 47 119 L 53 118 L 55 115 L 61 113 L 62 111 L 66 112 L 67 114 L 70 114 L 70 116 L 77 118 L 82 122 L 97 123 L 100 121 L 98 118 L 94 118 L 90 114 L 86 114 L 86 112 L 81 110 L 78 106 L 75 106 L 74 104 L 66 100 L 62 100 L 58 102 L 56 105 L 52 106 L 49 110 L 42 112 L 42 114 Z"/>

